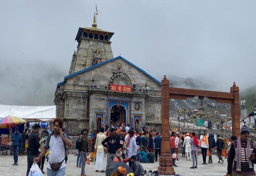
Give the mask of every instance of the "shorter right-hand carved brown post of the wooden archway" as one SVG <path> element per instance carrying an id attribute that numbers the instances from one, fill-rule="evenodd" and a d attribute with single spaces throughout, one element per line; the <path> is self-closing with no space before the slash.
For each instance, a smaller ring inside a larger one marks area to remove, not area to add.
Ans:
<path id="1" fill-rule="evenodd" d="M 239 87 L 236 83 L 230 87 L 230 92 L 233 93 L 234 99 L 231 104 L 231 118 L 232 118 L 232 135 L 237 138 L 240 136 L 240 100 L 239 100 Z"/>

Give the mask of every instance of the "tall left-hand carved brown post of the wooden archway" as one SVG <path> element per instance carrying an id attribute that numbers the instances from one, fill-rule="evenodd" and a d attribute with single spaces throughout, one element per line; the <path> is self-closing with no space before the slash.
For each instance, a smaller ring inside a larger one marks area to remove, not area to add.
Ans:
<path id="1" fill-rule="evenodd" d="M 175 175 L 170 157 L 169 135 L 169 80 L 164 76 L 161 81 L 161 156 L 159 158 L 158 172 L 160 175 Z"/>

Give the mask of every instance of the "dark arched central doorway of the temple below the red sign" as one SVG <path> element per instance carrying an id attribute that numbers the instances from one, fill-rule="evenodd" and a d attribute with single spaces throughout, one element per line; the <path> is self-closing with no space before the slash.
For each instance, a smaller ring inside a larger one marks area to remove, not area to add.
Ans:
<path id="1" fill-rule="evenodd" d="M 126 113 L 124 107 L 119 105 L 113 106 L 110 113 L 110 125 L 118 121 L 120 121 L 120 123 L 125 123 L 125 114 Z"/>

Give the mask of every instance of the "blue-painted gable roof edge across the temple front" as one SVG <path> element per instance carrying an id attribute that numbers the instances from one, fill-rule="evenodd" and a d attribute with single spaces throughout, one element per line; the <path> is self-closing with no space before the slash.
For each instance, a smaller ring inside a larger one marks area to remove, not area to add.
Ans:
<path id="1" fill-rule="evenodd" d="M 159 85 L 161 85 L 161 82 L 160 82 L 160 81 L 158 81 L 156 78 L 154 78 L 154 77 L 152 77 L 151 75 L 149 75 L 148 73 L 146 73 L 146 71 L 142 70 L 141 68 L 139 68 L 139 67 L 137 67 L 136 65 L 132 64 L 131 62 L 127 61 L 127 60 L 124 59 L 123 57 L 118 56 L 118 57 L 116 57 L 116 58 L 110 59 L 110 60 L 105 61 L 105 62 L 101 62 L 100 64 L 91 66 L 91 67 L 86 68 L 86 69 L 83 69 L 83 70 L 81 70 L 81 71 L 77 71 L 76 73 L 73 73 L 73 74 L 71 74 L 71 75 L 65 76 L 63 82 L 59 82 L 59 83 L 57 84 L 56 91 L 57 91 L 57 89 L 58 89 L 58 87 L 59 87 L 60 85 L 62 85 L 62 84 L 65 83 L 66 79 L 68 79 L 68 78 L 70 78 L 70 77 L 72 77 L 72 76 L 75 76 L 75 75 L 84 73 L 84 72 L 86 72 L 86 71 L 88 71 L 88 70 L 94 69 L 94 68 L 99 67 L 99 66 L 101 66 L 101 65 L 104 65 L 104 64 L 106 64 L 106 63 L 115 61 L 115 60 L 117 60 L 117 59 L 122 59 L 123 61 L 125 61 L 125 62 L 127 62 L 128 64 L 132 65 L 133 67 L 137 68 L 137 69 L 140 70 L 142 73 L 144 73 L 146 76 L 150 77 L 150 78 L 153 79 L 155 82 L 157 82 Z M 56 91 L 55 91 L 55 93 L 56 93 Z"/>

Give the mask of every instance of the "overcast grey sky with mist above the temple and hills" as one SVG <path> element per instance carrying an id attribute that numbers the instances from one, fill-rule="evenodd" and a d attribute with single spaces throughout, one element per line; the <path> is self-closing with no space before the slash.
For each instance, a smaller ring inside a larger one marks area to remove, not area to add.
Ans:
<path id="1" fill-rule="evenodd" d="M 114 32 L 114 57 L 161 80 L 202 79 L 211 90 L 255 85 L 256 1 L 0 1 L 0 104 L 54 105 L 79 27 Z"/>

